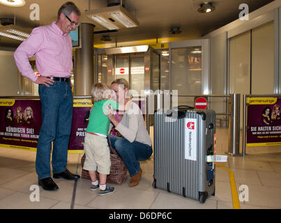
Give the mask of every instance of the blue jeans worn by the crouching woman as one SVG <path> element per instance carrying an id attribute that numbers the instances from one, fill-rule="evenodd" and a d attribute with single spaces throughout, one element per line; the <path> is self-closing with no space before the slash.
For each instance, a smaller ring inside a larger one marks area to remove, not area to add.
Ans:
<path id="1" fill-rule="evenodd" d="M 130 142 L 125 138 L 109 135 L 112 148 L 122 157 L 130 176 L 134 176 L 139 171 L 139 162 L 149 159 L 152 154 L 152 147 L 142 144 L 139 141 Z M 110 144 L 109 144 L 110 145 Z"/>

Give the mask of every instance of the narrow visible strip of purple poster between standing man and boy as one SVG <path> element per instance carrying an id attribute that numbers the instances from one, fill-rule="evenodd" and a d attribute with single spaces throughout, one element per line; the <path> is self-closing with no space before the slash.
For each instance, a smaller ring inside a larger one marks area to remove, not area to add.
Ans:
<path id="1" fill-rule="evenodd" d="M 68 144 L 68 150 L 71 150 L 72 153 L 84 151 L 84 137 L 92 106 L 91 99 L 73 100 L 73 128 Z"/>

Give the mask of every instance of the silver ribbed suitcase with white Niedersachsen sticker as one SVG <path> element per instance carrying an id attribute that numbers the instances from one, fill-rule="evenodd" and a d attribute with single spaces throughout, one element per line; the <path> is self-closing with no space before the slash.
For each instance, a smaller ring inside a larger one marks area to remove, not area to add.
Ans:
<path id="1" fill-rule="evenodd" d="M 215 196 L 215 112 L 179 106 L 154 114 L 153 187 L 204 203 Z"/>

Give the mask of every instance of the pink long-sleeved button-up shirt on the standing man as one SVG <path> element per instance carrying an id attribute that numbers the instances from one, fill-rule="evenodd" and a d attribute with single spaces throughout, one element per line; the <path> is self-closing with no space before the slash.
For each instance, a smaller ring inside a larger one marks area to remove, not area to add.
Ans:
<path id="1" fill-rule="evenodd" d="M 55 22 L 49 26 L 33 29 L 29 38 L 15 50 L 17 68 L 24 77 L 35 82 L 38 78 L 29 63 L 36 55 L 36 67 L 42 76 L 70 77 L 73 69 L 73 54 L 70 36 L 59 29 Z"/>

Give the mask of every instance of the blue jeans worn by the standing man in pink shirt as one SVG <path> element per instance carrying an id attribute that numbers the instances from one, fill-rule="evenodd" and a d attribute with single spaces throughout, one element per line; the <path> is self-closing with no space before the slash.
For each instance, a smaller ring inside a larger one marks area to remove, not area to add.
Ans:
<path id="1" fill-rule="evenodd" d="M 69 82 L 56 81 L 50 87 L 39 84 L 39 95 L 42 105 L 42 125 L 37 145 L 36 172 L 40 180 L 51 176 L 52 141 L 54 141 L 53 174 L 66 170 L 68 141 L 73 120 L 73 93 Z"/>

